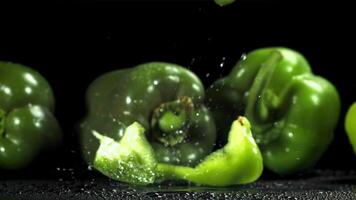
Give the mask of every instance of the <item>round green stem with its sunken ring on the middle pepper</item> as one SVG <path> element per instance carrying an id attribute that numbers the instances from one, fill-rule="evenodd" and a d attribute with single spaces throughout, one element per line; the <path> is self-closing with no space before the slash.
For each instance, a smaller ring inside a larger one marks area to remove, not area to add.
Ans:
<path id="1" fill-rule="evenodd" d="M 153 139 L 162 142 L 164 146 L 182 142 L 188 135 L 193 109 L 191 98 L 186 96 L 158 106 L 151 119 Z"/>

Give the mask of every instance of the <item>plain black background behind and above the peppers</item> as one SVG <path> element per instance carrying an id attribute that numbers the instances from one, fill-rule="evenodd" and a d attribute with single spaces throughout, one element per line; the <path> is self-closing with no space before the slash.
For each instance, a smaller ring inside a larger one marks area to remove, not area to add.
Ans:
<path id="1" fill-rule="evenodd" d="M 335 139 L 316 168 L 354 169 L 356 156 L 343 128 L 346 109 L 356 100 L 351 5 L 236 1 L 223 8 L 208 0 L 1 3 L 0 60 L 28 65 L 47 78 L 65 135 L 59 153 L 2 176 L 86 174 L 75 127 L 85 114 L 87 86 L 104 72 L 166 61 L 189 67 L 208 86 L 227 75 L 241 54 L 267 46 L 300 51 L 315 74 L 335 84 L 342 112 Z"/>

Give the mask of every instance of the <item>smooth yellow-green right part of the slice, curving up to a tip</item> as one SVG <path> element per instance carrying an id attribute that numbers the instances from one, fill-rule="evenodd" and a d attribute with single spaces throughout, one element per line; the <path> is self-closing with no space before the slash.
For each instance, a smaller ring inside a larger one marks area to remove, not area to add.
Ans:
<path id="1" fill-rule="evenodd" d="M 232 123 L 228 142 L 208 155 L 195 168 L 158 164 L 158 171 L 167 179 L 183 179 L 212 186 L 246 184 L 262 174 L 263 161 L 252 137 L 250 123 L 239 117 Z"/>

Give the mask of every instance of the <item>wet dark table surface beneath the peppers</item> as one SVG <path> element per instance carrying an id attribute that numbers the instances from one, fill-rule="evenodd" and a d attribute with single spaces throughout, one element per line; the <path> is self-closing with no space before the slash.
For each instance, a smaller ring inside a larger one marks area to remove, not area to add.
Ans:
<path id="1" fill-rule="evenodd" d="M 172 183 L 130 186 L 93 179 L 2 180 L 0 200 L 12 199 L 356 199 L 356 172 L 314 171 L 227 188 Z"/>

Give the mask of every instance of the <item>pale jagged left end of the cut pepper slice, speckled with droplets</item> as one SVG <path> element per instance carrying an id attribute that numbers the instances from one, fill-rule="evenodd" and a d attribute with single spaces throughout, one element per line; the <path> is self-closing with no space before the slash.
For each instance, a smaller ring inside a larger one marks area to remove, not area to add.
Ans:
<path id="1" fill-rule="evenodd" d="M 157 161 L 141 124 L 134 122 L 125 130 L 120 142 L 93 131 L 99 139 L 94 166 L 106 176 L 133 184 L 144 185 L 156 180 Z"/>

